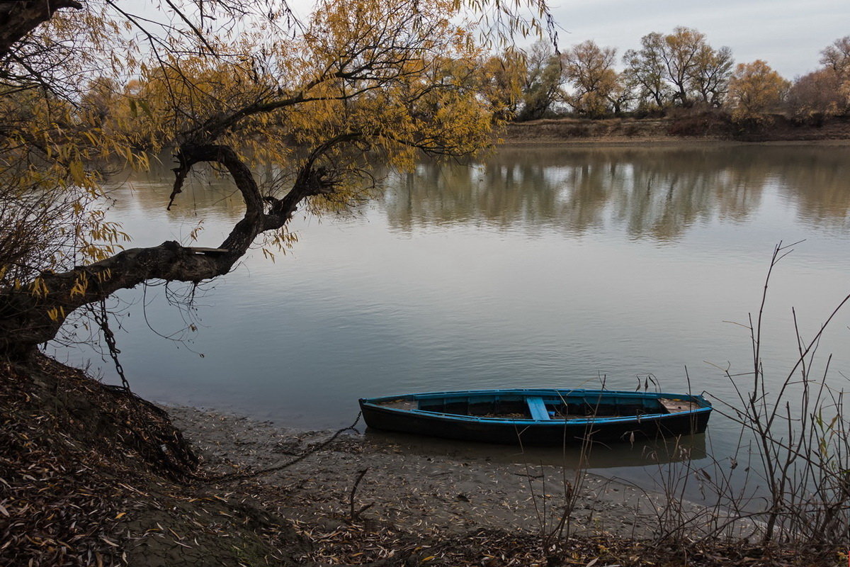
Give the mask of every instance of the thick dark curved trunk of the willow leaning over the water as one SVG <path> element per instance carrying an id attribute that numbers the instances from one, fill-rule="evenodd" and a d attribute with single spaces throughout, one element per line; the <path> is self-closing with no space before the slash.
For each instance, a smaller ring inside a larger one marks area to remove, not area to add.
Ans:
<path id="1" fill-rule="evenodd" d="M 118 290 L 149 280 L 197 283 L 228 273 L 258 235 L 283 227 L 301 201 L 333 192 L 334 184 L 325 179 L 323 170 L 313 167 L 316 155 L 314 151 L 286 196 L 263 200 L 251 170 L 232 148 L 184 145 L 177 156 L 179 167 L 174 170 L 172 201 L 180 193 L 191 167 L 199 162 L 223 165 L 245 201 L 244 216 L 224 242 L 217 249 L 201 251 L 175 241 L 156 247 L 131 248 L 67 272 L 44 272 L 39 281 L 29 286 L 0 290 L 0 357 L 26 356 L 38 344 L 54 338 L 75 309 L 108 298 Z"/>

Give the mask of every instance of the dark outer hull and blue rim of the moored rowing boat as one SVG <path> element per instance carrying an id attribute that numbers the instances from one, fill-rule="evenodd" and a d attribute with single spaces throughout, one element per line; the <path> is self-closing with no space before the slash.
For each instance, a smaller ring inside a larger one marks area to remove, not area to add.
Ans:
<path id="1" fill-rule="evenodd" d="M 547 418 L 538 413 L 535 419 L 494 418 L 467 414 L 451 414 L 445 411 L 422 411 L 420 409 L 399 409 L 382 405 L 385 400 L 408 400 L 411 404 L 422 404 L 421 400 L 434 400 L 439 395 L 458 399 L 467 395 L 469 400 L 478 400 L 474 396 L 502 396 L 520 398 L 530 394 L 535 398 L 542 395 L 575 397 L 581 392 L 584 399 L 593 399 L 598 391 L 587 390 L 498 390 L 475 392 L 448 392 L 429 394 L 410 394 L 407 396 L 361 399 L 360 409 L 366 425 L 385 431 L 397 431 L 406 434 L 429 435 L 445 439 L 460 439 L 484 443 L 507 445 L 581 445 L 584 442 L 632 442 L 638 439 L 653 439 L 660 436 L 680 434 L 700 434 L 706 430 L 711 416 L 711 405 L 701 396 L 684 394 L 652 394 L 651 399 L 659 396 L 675 396 L 677 400 L 687 400 L 694 405 L 693 410 L 669 413 L 646 413 L 625 417 L 585 416 L 573 419 Z M 589 393 L 589 394 L 588 394 Z M 642 400 L 643 396 L 634 393 L 606 393 L 629 396 L 630 400 Z M 428 397 L 430 396 L 430 397 Z M 472 406 L 471 402 L 467 402 Z M 427 407 L 427 406 L 426 406 Z M 546 407 L 551 407 L 547 405 Z M 658 411 L 658 410 L 656 410 Z"/>

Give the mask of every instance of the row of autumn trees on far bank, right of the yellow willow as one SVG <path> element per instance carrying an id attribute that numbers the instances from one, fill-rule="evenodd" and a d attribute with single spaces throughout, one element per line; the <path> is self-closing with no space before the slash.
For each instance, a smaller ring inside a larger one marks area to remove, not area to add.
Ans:
<path id="1" fill-rule="evenodd" d="M 820 52 L 817 71 L 789 81 L 763 60 L 735 65 L 732 50 L 713 48 L 700 31 L 649 33 L 623 54 L 592 40 L 556 53 L 539 42 L 490 58 L 490 99 L 517 121 L 552 116 L 658 115 L 672 108 L 723 109 L 735 122 L 771 114 L 808 120 L 850 111 L 850 36 Z"/>

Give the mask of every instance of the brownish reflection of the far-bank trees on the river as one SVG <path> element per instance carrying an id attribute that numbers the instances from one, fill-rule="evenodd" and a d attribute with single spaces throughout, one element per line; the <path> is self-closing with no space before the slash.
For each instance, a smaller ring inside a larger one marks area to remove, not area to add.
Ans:
<path id="1" fill-rule="evenodd" d="M 401 231 L 521 224 L 664 242 L 700 222 L 744 221 L 776 187 L 805 222 L 847 230 L 848 157 L 847 147 L 506 148 L 481 162 L 427 162 L 394 176 L 382 206 Z"/>

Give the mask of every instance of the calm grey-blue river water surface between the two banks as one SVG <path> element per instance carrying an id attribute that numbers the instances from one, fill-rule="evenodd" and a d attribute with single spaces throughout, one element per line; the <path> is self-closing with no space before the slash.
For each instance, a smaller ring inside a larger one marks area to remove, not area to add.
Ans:
<path id="1" fill-rule="evenodd" d="M 185 242 L 203 218 L 200 245 L 218 246 L 241 215 L 232 186 L 198 177 L 167 212 L 167 167 L 120 185 L 112 218 L 135 246 Z M 793 360 L 791 308 L 811 337 L 850 292 L 848 184 L 840 146 L 506 148 L 422 163 L 354 216 L 298 217 L 291 252 L 257 250 L 202 286 L 195 319 L 168 304 L 184 286 L 123 293 L 122 364 L 144 397 L 303 428 L 348 425 L 360 396 L 424 390 L 653 377 L 731 400 L 718 367 L 751 368 L 733 321 L 757 311 L 777 242 L 803 241 L 771 282 L 768 379 Z M 850 376 L 848 324 L 820 347 L 836 380 Z M 715 416 L 709 431 L 702 451 L 731 454 L 733 425 Z"/>

